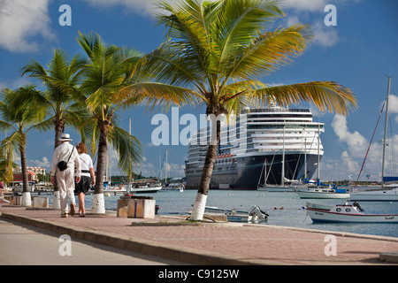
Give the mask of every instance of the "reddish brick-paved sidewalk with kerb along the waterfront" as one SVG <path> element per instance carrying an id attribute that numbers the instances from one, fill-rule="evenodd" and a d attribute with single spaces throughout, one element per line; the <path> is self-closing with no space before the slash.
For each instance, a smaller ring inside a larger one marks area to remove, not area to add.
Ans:
<path id="1" fill-rule="evenodd" d="M 60 218 L 59 210 L 0 203 L 1 218 L 188 264 L 397 264 L 398 238 L 267 225 L 180 224 L 183 218 Z M 336 239 L 336 256 L 326 256 Z M 327 247 L 326 247 L 327 246 Z M 380 253 L 383 253 L 380 256 Z M 380 261 L 387 259 L 387 262 Z"/>

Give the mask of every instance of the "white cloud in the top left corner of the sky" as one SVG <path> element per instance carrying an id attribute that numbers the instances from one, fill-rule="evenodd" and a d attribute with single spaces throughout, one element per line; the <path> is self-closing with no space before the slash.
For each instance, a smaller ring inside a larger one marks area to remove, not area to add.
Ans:
<path id="1" fill-rule="evenodd" d="M 0 0 L 0 46 L 13 52 L 37 51 L 34 36 L 54 40 L 50 29 L 50 0 Z"/>

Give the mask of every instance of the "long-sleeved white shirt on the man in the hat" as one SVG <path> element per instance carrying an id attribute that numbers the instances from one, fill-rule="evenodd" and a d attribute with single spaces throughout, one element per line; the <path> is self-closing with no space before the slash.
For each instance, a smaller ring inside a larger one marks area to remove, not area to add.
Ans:
<path id="1" fill-rule="evenodd" d="M 71 156 L 71 158 L 69 158 L 69 156 Z M 57 164 L 59 161 L 62 160 L 68 163 L 68 168 L 73 168 L 73 169 L 76 168 L 76 176 L 80 177 L 81 171 L 80 171 L 79 154 L 77 152 L 77 149 L 75 149 L 75 147 L 73 147 L 73 145 L 70 144 L 69 142 L 63 142 L 62 144 L 57 146 L 57 149 L 54 150 L 54 155 L 52 156 L 52 162 L 51 162 L 51 176 L 55 175 L 55 173 L 58 170 Z"/>

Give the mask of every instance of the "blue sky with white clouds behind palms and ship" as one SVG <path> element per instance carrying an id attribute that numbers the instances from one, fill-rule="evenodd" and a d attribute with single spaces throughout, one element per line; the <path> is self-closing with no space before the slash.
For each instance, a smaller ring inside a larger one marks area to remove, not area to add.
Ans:
<path id="1" fill-rule="evenodd" d="M 20 77 L 20 68 L 30 58 L 47 65 L 54 49 L 65 50 L 70 56 L 81 52 L 75 38 L 96 32 L 104 42 L 132 47 L 142 52 L 157 48 L 164 38 L 164 28 L 156 27 L 151 18 L 149 0 L 0 0 L 0 88 L 19 88 L 27 82 L 39 82 Z M 62 4 L 72 8 L 72 26 L 61 27 L 58 11 Z M 337 26 L 325 26 L 325 5 L 333 4 L 337 11 Z M 294 23 L 310 24 L 315 39 L 306 52 L 294 63 L 265 77 L 269 84 L 290 84 L 314 80 L 338 81 L 357 96 L 359 107 L 347 117 L 332 113 L 319 113 L 311 107 L 314 119 L 325 123 L 322 141 L 325 156 L 321 164 L 323 180 L 356 179 L 383 100 L 387 95 L 387 75 L 393 77 L 390 103 L 392 141 L 388 149 L 398 152 L 398 2 L 396 0 L 287 0 L 286 19 L 277 25 Z M 180 110 L 184 113 L 203 113 L 203 109 Z M 128 129 L 132 118 L 132 134 L 140 139 L 144 149 L 144 174 L 157 175 L 159 157 L 163 159 L 168 149 L 171 174 L 183 176 L 183 164 L 188 148 L 185 146 L 155 147 L 150 140 L 151 125 L 155 113 L 143 112 L 142 107 L 121 113 L 121 125 Z M 384 117 L 380 123 L 384 123 Z M 73 129 L 65 132 L 79 136 Z M 31 133 L 28 136 L 27 162 L 29 166 L 50 169 L 54 133 Z M 381 172 L 382 126 L 375 135 L 362 180 L 371 175 L 378 180 Z M 111 172 L 116 173 L 116 160 Z M 394 173 L 391 158 L 387 172 Z"/>

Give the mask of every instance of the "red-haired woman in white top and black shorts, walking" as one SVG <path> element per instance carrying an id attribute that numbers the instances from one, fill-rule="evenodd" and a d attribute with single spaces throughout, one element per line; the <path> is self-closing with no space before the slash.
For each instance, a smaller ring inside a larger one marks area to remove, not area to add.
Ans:
<path id="1" fill-rule="evenodd" d="M 86 210 L 84 208 L 84 196 L 88 192 L 90 186 L 96 184 L 96 176 L 94 172 L 93 161 L 87 153 L 87 147 L 84 142 L 76 144 L 76 149 L 79 153 L 80 159 L 80 182 L 75 184 L 75 193 L 79 198 L 79 215 L 80 217 L 86 216 Z M 90 180 L 91 177 L 91 180 Z"/>

